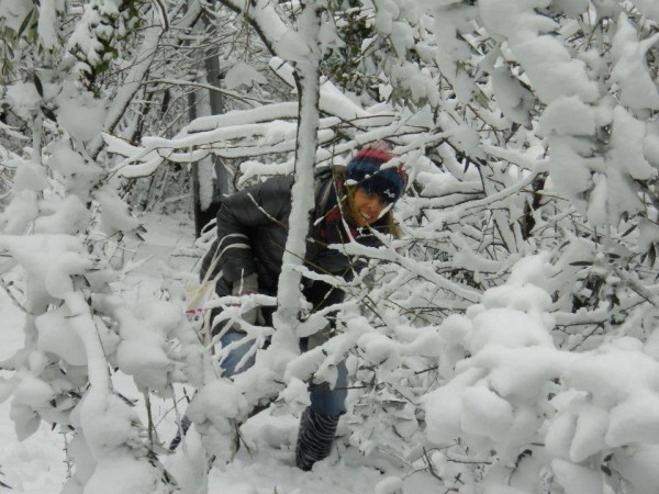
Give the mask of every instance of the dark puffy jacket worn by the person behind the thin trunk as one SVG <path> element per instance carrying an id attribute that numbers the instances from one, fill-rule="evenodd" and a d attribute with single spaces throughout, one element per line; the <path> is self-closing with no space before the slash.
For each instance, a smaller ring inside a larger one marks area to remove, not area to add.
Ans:
<path id="1" fill-rule="evenodd" d="M 288 236 L 292 184 L 291 176 L 273 177 L 222 200 L 217 212 L 217 239 L 204 257 L 201 268 L 203 278 L 217 252 L 219 261 L 212 277 L 222 271 L 215 289 L 219 295 L 230 294 L 235 281 L 254 272 L 258 274 L 259 292 L 276 294 Z M 337 194 L 340 197 L 342 193 L 342 176 L 327 170 L 316 178 L 305 263 L 319 272 L 349 279 L 353 260 L 340 250 L 326 247 L 327 244 L 349 240 L 337 207 Z M 388 229 L 384 221 L 376 223 L 372 228 Z M 360 244 L 379 245 L 368 228 L 350 227 L 350 231 Z M 332 296 L 327 299 L 330 292 Z M 343 292 L 333 291 L 326 283 L 310 280 L 304 281 L 304 294 L 316 308 L 321 302 L 325 305 L 343 300 Z"/>

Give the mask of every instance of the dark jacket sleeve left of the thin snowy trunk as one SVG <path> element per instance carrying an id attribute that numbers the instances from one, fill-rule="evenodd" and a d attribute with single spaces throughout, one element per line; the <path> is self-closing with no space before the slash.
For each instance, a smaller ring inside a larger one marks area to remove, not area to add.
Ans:
<path id="1" fill-rule="evenodd" d="M 217 240 L 202 262 L 202 272 L 209 269 L 214 256 L 217 262 L 212 274 L 222 271 L 228 285 L 256 272 L 254 232 L 272 222 L 288 222 L 291 186 L 290 177 L 273 177 L 223 199 L 217 212 Z"/>

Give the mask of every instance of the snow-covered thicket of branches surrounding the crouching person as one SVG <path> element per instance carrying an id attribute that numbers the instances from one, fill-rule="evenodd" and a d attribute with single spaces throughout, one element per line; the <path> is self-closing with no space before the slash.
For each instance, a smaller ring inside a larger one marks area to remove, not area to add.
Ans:
<path id="1" fill-rule="evenodd" d="M 40 420 L 70 427 L 67 492 L 118 469 L 131 485 L 116 492 L 203 491 L 234 422 L 269 403 L 299 411 L 305 382 L 332 382 L 343 359 L 353 446 L 445 490 L 656 489 L 652 1 L 15 0 L 0 30 L 1 281 L 26 313 L 1 395 L 20 437 Z M 188 122 L 187 96 L 213 90 L 200 53 L 220 57 L 232 103 Z M 299 355 L 331 312 L 299 297 L 300 277 L 323 276 L 300 263 L 313 167 L 378 139 L 411 176 L 404 235 L 344 247 L 368 268 L 328 280 L 350 294 L 338 335 Z M 181 290 L 137 304 L 112 293 L 121 239 L 141 228 L 124 180 L 210 156 L 242 164 L 238 184 L 297 178 L 281 296 L 239 310 L 193 299 L 234 321 L 278 306 L 275 328 L 247 327 L 256 364 L 233 381 Z M 176 400 L 175 383 L 198 390 L 170 473 L 153 424 L 113 390 L 116 370 L 146 404 Z"/>

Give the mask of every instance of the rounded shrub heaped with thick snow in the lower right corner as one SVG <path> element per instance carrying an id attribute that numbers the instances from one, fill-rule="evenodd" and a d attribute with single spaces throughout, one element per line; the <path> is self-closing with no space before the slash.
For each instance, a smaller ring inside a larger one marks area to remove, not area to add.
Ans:
<path id="1" fill-rule="evenodd" d="M 557 348 L 549 295 L 533 284 L 551 272 L 547 256 L 524 259 L 506 284 L 439 327 L 466 326 L 453 344 L 469 357 L 423 397 L 432 459 L 440 475 L 456 456 L 480 462 L 465 473 L 484 492 L 502 482 L 523 492 L 647 492 L 656 472 L 633 465 L 659 451 L 659 362 L 650 343 L 621 335 L 581 353 Z"/>

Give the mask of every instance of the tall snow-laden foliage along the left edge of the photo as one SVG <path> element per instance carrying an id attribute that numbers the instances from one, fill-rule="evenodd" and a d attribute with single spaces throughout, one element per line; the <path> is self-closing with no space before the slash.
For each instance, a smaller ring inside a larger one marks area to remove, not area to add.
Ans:
<path id="1" fill-rule="evenodd" d="M 65 492 L 171 492 L 176 480 L 153 451 L 153 425 L 142 424 L 112 374 L 122 371 L 145 393 L 167 395 L 172 382 L 208 380 L 202 349 L 177 305 L 130 306 L 113 295 L 121 239 L 138 237 L 143 226 L 118 194 L 94 143 L 102 143 L 102 130 L 115 127 L 135 85 L 124 83 L 112 100 L 107 97 L 115 87 L 92 88 L 89 78 L 109 61 L 98 44 L 114 49 L 112 40 L 126 34 L 123 21 L 112 24 L 105 16 L 136 20 L 137 12 L 131 8 L 124 15 L 120 2 L 105 1 L 78 15 L 71 3 L 10 1 L 0 8 L 7 59 L 2 173 L 11 184 L 0 213 L 0 277 L 25 313 L 25 345 L 2 362 L 11 371 L 2 378 L 2 398 L 12 396 L 20 438 L 42 420 L 68 436 Z M 85 32 L 89 25 L 93 35 Z M 71 46 L 82 41 L 91 52 L 81 75 Z M 172 353 L 175 340 L 182 353 Z"/>

